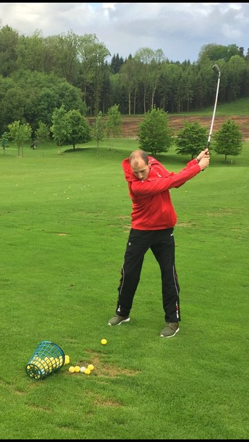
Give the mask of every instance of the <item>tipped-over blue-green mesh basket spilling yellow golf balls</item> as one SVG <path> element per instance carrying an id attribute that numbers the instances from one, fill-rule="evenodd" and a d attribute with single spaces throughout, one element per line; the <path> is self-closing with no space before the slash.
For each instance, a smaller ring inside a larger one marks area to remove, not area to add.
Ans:
<path id="1" fill-rule="evenodd" d="M 63 367 L 65 354 L 63 350 L 49 340 L 37 345 L 35 352 L 26 364 L 26 373 L 30 378 L 43 379 Z"/>

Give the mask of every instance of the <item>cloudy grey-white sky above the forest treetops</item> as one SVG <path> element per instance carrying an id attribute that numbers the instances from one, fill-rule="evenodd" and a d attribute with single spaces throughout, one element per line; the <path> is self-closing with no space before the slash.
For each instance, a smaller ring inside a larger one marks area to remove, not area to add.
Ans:
<path id="1" fill-rule="evenodd" d="M 123 58 L 151 48 L 194 62 L 206 44 L 236 44 L 244 55 L 249 47 L 249 3 L 0 3 L 6 25 L 24 35 L 95 34 Z"/>

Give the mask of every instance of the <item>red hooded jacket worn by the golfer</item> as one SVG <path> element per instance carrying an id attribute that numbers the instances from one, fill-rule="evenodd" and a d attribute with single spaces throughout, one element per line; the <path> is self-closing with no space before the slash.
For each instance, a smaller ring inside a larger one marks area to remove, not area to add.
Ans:
<path id="1" fill-rule="evenodd" d="M 132 200 L 131 227 L 138 230 L 169 229 L 177 220 L 169 189 L 182 186 L 201 169 L 196 159 L 188 162 L 178 173 L 167 171 L 154 157 L 149 157 L 149 161 L 150 171 L 144 181 L 133 174 L 129 158 L 122 161 Z"/>

